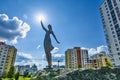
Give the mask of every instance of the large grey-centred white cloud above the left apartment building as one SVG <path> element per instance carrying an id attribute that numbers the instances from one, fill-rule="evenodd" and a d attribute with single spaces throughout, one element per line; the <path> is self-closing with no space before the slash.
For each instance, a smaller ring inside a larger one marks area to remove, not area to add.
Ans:
<path id="1" fill-rule="evenodd" d="M 30 26 L 17 17 L 9 19 L 6 14 L 0 14 L 0 30 L 1 40 L 15 44 L 18 38 L 26 37 L 27 32 L 30 31 Z"/>

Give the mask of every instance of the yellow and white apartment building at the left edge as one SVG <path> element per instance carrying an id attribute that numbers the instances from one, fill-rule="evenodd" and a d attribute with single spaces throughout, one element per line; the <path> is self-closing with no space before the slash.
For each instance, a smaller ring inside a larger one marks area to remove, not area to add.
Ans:
<path id="1" fill-rule="evenodd" d="M 6 75 L 11 66 L 14 66 L 17 49 L 14 46 L 0 42 L 0 77 Z"/>

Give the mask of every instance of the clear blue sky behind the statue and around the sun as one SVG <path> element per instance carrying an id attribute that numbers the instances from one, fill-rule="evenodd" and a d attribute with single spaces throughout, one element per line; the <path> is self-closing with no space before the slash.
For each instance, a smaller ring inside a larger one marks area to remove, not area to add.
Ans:
<path id="1" fill-rule="evenodd" d="M 59 49 L 56 54 L 62 55 L 66 49 L 75 46 L 97 49 L 99 46 L 106 45 L 99 13 L 102 1 L 1 0 L 0 14 L 6 14 L 9 19 L 16 16 L 23 23 L 28 24 L 30 30 L 25 32 L 26 36 L 24 38 L 22 38 L 23 35 L 19 36 L 17 43 L 12 45 L 18 49 L 18 52 L 29 54 L 30 58 L 42 59 L 45 32 L 40 23 L 35 21 L 36 13 L 46 15 L 47 19 L 43 22 L 45 27 L 51 24 L 60 41 L 60 44 L 57 44 L 51 36 L 54 47 Z M 11 44 L 9 38 L 6 37 L 4 40 Z M 38 46 L 39 49 L 37 49 Z"/>

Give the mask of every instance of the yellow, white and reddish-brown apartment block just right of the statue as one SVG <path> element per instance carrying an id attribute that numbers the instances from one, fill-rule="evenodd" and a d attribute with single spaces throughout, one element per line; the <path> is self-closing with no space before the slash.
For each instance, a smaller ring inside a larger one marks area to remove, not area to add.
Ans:
<path id="1" fill-rule="evenodd" d="M 88 51 L 82 50 L 80 47 L 68 49 L 65 52 L 66 68 L 85 68 L 88 62 Z"/>

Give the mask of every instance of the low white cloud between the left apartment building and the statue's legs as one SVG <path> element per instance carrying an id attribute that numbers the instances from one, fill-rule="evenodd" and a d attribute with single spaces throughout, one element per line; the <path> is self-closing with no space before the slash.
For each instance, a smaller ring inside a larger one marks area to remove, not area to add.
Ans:
<path id="1" fill-rule="evenodd" d="M 31 54 L 18 52 L 15 65 L 33 65 L 36 64 L 39 69 L 46 67 L 47 61 L 45 55 L 42 55 L 42 59 L 36 59 Z"/>

